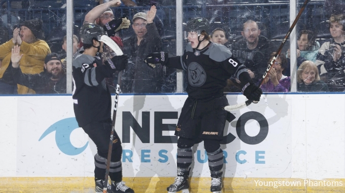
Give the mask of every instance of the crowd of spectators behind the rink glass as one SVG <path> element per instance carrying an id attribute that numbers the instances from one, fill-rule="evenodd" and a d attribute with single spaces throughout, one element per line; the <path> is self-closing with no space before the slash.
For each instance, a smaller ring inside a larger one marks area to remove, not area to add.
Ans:
<path id="1" fill-rule="evenodd" d="M 267 63 L 271 62 L 278 45 L 265 36 L 262 31 L 266 29 L 262 28 L 260 22 L 254 18 L 245 20 L 240 29 L 240 36 L 234 38 L 229 36 L 228 26 L 214 27 L 210 41 L 225 45 L 232 55 L 247 67 L 256 84 L 262 81 L 261 89 L 264 92 L 289 92 L 290 76 L 295 72 L 297 72 L 297 91 L 343 92 L 345 91 L 345 13 L 331 6 L 333 5 L 331 2 L 325 3 L 328 6 L 326 6 L 327 13 L 332 12 L 328 18 L 329 38 L 321 40 L 318 39 L 317 30 L 298 28 L 297 49 L 295 51 L 285 49 L 275 59 L 271 70 L 263 80 Z M 97 6 L 95 5 L 96 7 L 85 15 L 84 23 L 102 26 L 128 56 L 128 65 L 121 72 L 121 91 L 123 93 L 176 92 L 176 70 L 165 66 L 151 69 L 144 62 L 144 58 L 149 53 L 168 49 L 164 46 L 166 40 L 161 26 L 165 23 L 157 23 L 161 19 L 157 17 L 157 11 L 159 6 L 171 6 L 171 2 L 122 0 L 121 6 L 146 6 L 147 9 L 133 11 L 130 15 L 119 18 L 115 18 L 114 9 L 108 5 L 109 1 L 99 0 L 95 3 Z M 15 8 L 18 5 L 17 3 L 12 6 Z M 2 6 L 4 7 L 5 3 Z M 344 6 L 343 3 L 340 4 L 341 6 Z M 2 25 L 0 33 L 4 34 L 0 36 L 0 94 L 66 93 L 65 72 L 70 69 L 67 68 L 66 63 L 66 36 L 60 40 L 61 49 L 51 50 L 51 46 L 42 37 L 41 19 L 22 21 L 18 18 L 17 25 L 12 27 L 12 38 L 7 38 L 6 33 L 9 30 L 2 28 L 5 24 L 0 17 L 0 25 Z M 119 27 L 112 29 L 112 26 Z M 83 51 L 79 31 L 75 30 L 72 52 L 76 54 Z M 296 61 L 291 61 L 292 52 L 296 53 Z M 105 45 L 100 57 L 104 62 L 115 55 L 110 47 Z M 290 72 L 290 66 L 294 64 L 296 71 Z M 106 78 L 112 93 L 116 91 L 117 80 L 116 73 L 112 78 Z M 240 92 L 239 85 L 238 79 L 229 77 L 224 92 Z"/>

